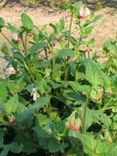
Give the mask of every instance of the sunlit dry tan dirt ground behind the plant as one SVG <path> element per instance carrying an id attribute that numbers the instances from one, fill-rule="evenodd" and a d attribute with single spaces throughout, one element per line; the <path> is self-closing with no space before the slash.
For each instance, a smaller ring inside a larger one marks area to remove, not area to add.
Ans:
<path id="1" fill-rule="evenodd" d="M 26 12 L 37 26 L 48 24 L 50 22 L 56 23 L 61 18 L 66 17 L 66 14 L 63 12 L 53 11 L 52 9 L 48 9 L 46 7 L 32 9 L 25 8 L 17 4 L 2 8 L 0 10 L 0 17 L 3 17 L 7 23 L 19 26 L 20 15 L 22 12 Z M 97 52 L 100 53 L 104 41 L 117 35 L 117 9 L 106 7 L 96 11 L 96 14 L 101 14 L 102 18 L 97 22 L 92 36 L 96 37 L 96 49 Z M 0 36 L 0 45 L 2 42 L 3 38 Z M 2 68 L 3 65 L 4 61 L 1 56 L 0 67 Z"/>

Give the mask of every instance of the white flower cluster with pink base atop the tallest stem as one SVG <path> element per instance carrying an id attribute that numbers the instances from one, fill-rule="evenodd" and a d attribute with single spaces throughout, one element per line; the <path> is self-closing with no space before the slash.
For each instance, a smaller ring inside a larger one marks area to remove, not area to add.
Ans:
<path id="1" fill-rule="evenodd" d="M 90 16 L 91 12 L 89 10 L 89 8 L 81 8 L 80 11 L 79 11 L 79 17 L 80 19 L 85 19 L 87 18 L 88 16 Z"/>

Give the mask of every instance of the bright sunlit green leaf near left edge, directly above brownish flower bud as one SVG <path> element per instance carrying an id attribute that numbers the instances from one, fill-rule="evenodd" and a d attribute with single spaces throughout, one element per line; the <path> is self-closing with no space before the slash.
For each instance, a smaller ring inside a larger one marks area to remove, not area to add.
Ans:
<path id="1" fill-rule="evenodd" d="M 6 113 L 11 114 L 17 111 L 18 106 L 19 106 L 18 95 L 14 95 L 7 101 L 4 109 Z"/>

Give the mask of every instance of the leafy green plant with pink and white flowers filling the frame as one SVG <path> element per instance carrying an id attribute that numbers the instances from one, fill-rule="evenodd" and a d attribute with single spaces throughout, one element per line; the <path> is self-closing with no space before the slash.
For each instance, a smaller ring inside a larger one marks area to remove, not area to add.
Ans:
<path id="1" fill-rule="evenodd" d="M 95 39 L 88 38 L 101 16 L 81 2 L 61 7 L 71 14 L 69 26 L 61 20 L 38 28 L 22 13 L 22 26 L 16 28 L 0 18 L 0 34 L 9 44 L 1 52 L 6 69 L 13 70 L 0 79 L 1 156 L 117 153 L 116 72 L 108 66 L 112 51 L 105 44 L 108 61 L 98 62 L 91 54 Z M 116 40 L 109 45 L 116 55 Z"/>

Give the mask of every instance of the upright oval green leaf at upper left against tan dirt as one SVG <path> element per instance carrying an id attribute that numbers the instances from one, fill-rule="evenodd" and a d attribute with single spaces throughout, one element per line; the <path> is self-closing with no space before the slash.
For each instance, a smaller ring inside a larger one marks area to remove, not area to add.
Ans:
<path id="1" fill-rule="evenodd" d="M 33 21 L 28 15 L 26 15 L 25 13 L 22 13 L 21 21 L 22 21 L 22 25 L 24 28 L 26 28 L 28 30 L 32 30 L 32 28 L 34 26 Z"/>

